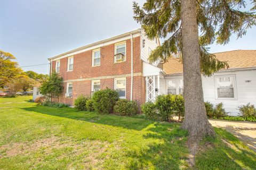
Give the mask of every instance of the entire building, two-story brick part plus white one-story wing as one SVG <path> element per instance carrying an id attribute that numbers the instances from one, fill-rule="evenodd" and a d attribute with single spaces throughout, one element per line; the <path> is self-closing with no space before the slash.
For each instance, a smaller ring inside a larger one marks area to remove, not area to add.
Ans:
<path id="1" fill-rule="evenodd" d="M 58 72 L 64 82 L 59 101 L 73 105 L 79 95 L 105 88 L 139 105 L 161 94 L 182 94 L 182 64 L 177 59 L 148 63 L 151 50 L 159 45 L 158 38 L 149 40 L 138 29 L 49 58 L 51 72 Z M 205 101 L 222 102 L 230 115 L 237 115 L 242 104 L 256 105 L 256 50 L 215 55 L 228 61 L 230 69 L 202 77 Z"/>

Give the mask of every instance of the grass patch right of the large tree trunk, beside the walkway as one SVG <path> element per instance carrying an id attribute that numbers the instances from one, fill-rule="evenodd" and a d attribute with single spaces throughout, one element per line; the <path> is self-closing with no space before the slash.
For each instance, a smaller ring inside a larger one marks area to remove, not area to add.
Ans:
<path id="1" fill-rule="evenodd" d="M 256 153 L 247 148 L 243 142 L 233 134 L 214 128 L 217 138 L 208 138 L 204 142 L 212 143 L 212 147 L 205 147 L 196 156 L 198 169 L 255 169 Z"/>

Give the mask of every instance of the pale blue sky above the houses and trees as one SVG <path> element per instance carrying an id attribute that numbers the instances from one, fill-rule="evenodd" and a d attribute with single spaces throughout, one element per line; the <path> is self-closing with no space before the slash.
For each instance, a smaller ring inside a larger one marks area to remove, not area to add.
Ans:
<path id="1" fill-rule="evenodd" d="M 145 0 L 135 0 L 143 4 Z M 140 28 L 132 18 L 133 0 L 0 0 L 0 49 L 20 66 L 48 63 L 47 58 Z M 210 52 L 256 49 L 256 27 L 246 36 L 232 36 Z M 22 67 L 37 73 L 48 65 Z"/>

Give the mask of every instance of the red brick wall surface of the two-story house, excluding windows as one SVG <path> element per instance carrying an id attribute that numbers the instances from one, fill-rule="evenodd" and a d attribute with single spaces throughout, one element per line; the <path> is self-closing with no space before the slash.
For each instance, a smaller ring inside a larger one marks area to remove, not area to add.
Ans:
<path id="1" fill-rule="evenodd" d="M 92 50 L 74 55 L 73 71 L 67 72 L 68 57 L 60 60 L 60 75 L 63 80 L 73 80 L 82 78 L 104 77 L 107 75 L 119 75 L 131 73 L 131 40 L 126 40 L 126 61 L 114 63 L 115 44 L 103 46 L 101 50 L 100 66 L 92 67 Z M 55 70 L 55 61 L 52 62 L 52 70 Z M 142 73 L 142 61 L 140 59 L 140 37 L 133 38 L 133 73 Z M 77 96 L 91 94 L 91 80 L 73 82 L 73 97 L 65 98 L 66 83 L 63 83 L 63 94 L 59 101 L 73 105 Z M 100 88 L 114 89 L 114 78 L 101 79 Z M 131 77 L 126 77 L 126 98 L 131 95 Z M 133 100 L 138 104 L 145 102 L 145 84 L 143 77 L 133 77 Z"/>

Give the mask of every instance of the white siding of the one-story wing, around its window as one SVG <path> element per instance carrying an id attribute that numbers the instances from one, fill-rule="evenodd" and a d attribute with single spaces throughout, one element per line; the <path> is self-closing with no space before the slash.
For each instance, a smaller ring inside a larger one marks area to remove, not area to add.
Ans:
<path id="1" fill-rule="evenodd" d="M 217 75 L 235 75 L 236 78 L 236 94 L 237 99 L 216 99 L 215 98 L 215 83 L 214 76 Z M 183 76 L 168 76 L 168 79 L 183 78 Z M 250 80 L 251 82 L 245 82 Z M 237 116 L 238 106 L 246 105 L 251 103 L 256 106 L 256 70 L 247 71 L 230 71 L 230 72 L 219 72 L 215 73 L 212 77 L 202 77 L 204 100 L 210 101 L 212 104 L 216 105 L 218 103 L 223 103 L 224 108 L 229 115 Z M 166 88 L 165 88 L 166 89 Z M 166 94 L 165 90 L 165 94 Z"/>

